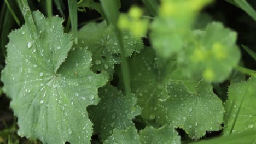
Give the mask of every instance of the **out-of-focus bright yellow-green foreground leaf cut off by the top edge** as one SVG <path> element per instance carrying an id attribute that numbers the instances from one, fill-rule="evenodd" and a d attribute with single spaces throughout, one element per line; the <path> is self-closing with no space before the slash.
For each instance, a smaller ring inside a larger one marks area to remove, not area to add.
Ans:
<path id="1" fill-rule="evenodd" d="M 153 48 L 159 56 L 167 58 L 182 50 L 190 38 L 197 13 L 209 2 L 211 0 L 161 1 L 159 17 L 153 21 L 150 33 Z"/>

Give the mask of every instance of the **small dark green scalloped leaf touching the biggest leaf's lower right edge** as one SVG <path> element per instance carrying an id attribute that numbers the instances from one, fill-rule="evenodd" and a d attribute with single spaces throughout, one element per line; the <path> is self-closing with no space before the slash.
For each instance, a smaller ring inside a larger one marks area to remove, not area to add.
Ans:
<path id="1" fill-rule="evenodd" d="M 139 115 L 141 109 L 136 97 L 123 95 L 110 84 L 99 90 L 101 101 L 96 106 L 90 106 L 90 119 L 95 124 L 94 131 L 100 133 L 102 141 L 112 135 L 114 129 L 124 130 L 133 126 L 132 119 Z"/>

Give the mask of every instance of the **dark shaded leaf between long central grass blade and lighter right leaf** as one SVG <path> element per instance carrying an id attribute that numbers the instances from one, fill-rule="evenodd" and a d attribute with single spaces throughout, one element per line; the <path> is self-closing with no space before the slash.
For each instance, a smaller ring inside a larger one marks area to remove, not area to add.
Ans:
<path id="1" fill-rule="evenodd" d="M 141 115 L 148 120 L 158 119 L 159 123 L 165 123 L 165 113 L 158 103 L 158 99 L 167 96 L 167 90 L 162 83 L 165 74 L 171 73 L 176 64 L 171 61 L 170 67 L 166 68 L 168 62 L 168 59 L 157 59 L 151 47 L 146 47 L 129 61 L 132 72 L 131 89 L 138 98 L 138 105 L 142 107 Z"/>

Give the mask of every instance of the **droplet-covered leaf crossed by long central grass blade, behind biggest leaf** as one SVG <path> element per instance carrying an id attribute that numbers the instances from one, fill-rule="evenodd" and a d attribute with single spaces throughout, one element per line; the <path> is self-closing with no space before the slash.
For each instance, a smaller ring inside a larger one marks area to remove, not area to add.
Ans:
<path id="1" fill-rule="evenodd" d="M 142 40 L 133 37 L 129 32 L 123 32 L 123 43 L 126 48 L 125 56 L 139 52 L 143 48 Z M 114 64 L 121 62 L 120 45 L 115 37 L 113 27 L 106 22 L 89 23 L 78 31 L 79 44 L 88 47 L 92 52 L 93 71 L 114 72 Z"/>

